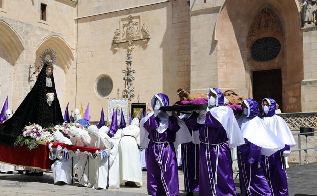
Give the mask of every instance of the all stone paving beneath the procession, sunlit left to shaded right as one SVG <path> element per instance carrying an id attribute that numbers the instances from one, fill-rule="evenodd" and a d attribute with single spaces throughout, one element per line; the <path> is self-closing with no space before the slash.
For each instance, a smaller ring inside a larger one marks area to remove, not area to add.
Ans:
<path id="1" fill-rule="evenodd" d="M 317 196 L 317 163 L 291 167 L 289 174 L 290 196 Z M 183 174 L 179 172 L 180 196 L 186 195 L 183 183 Z M 143 184 L 146 184 L 146 172 L 143 172 Z M 143 196 L 148 195 L 146 185 L 138 188 L 120 187 L 115 190 L 94 190 L 92 188 L 78 188 L 75 185 L 54 185 L 51 172 L 43 176 L 26 176 L 15 174 L 0 174 L 0 195 L 109 195 L 109 196 Z M 235 180 L 236 189 L 240 192 L 239 180 Z M 199 195 L 198 193 L 195 196 Z"/>

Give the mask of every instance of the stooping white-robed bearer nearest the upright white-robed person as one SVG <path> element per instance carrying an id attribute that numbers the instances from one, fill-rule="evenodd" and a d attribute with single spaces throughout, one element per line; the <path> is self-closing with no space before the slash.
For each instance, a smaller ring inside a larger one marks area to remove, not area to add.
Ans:
<path id="1" fill-rule="evenodd" d="M 119 156 L 118 148 L 114 146 L 112 138 L 96 125 L 88 127 L 90 137 L 100 152 L 92 154 L 96 161 L 96 180 L 93 188 L 114 189 L 119 188 Z"/>

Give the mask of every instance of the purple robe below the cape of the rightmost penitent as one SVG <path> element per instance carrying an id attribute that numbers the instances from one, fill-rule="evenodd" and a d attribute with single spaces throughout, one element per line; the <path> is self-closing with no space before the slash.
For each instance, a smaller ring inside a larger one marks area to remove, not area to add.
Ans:
<path id="1" fill-rule="evenodd" d="M 289 186 L 287 185 L 287 174 L 285 169 L 284 151 L 290 151 L 290 146 L 277 151 L 271 156 L 262 156 L 262 163 L 265 168 L 265 175 L 274 196 L 288 196 Z"/>

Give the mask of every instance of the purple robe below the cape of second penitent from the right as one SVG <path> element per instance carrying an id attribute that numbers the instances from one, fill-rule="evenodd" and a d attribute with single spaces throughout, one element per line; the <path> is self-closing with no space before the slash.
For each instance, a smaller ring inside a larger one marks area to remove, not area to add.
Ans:
<path id="1" fill-rule="evenodd" d="M 270 196 L 270 187 L 262 167 L 261 147 L 250 143 L 247 139 L 245 139 L 245 142 L 246 144 L 237 147 L 241 194 L 243 196 Z M 249 190 L 248 187 L 250 187 Z"/>

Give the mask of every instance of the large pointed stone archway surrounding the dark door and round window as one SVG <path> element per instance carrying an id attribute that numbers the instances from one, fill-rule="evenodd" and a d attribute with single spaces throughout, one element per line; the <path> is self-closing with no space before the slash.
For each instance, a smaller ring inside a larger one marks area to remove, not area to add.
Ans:
<path id="1" fill-rule="evenodd" d="M 256 64 L 254 67 L 248 58 L 248 44 L 253 43 L 252 39 L 248 40 L 249 29 L 253 19 L 265 8 L 273 10 L 274 16 L 281 23 L 279 39 L 282 53 L 274 65 Z M 226 0 L 216 23 L 215 40 L 218 41 L 217 72 L 220 88 L 230 88 L 252 97 L 252 69 L 268 70 L 272 66 L 279 66 L 282 69 L 283 111 L 301 111 L 303 34 L 300 8 L 296 0 Z"/>

